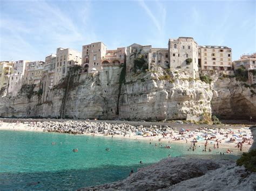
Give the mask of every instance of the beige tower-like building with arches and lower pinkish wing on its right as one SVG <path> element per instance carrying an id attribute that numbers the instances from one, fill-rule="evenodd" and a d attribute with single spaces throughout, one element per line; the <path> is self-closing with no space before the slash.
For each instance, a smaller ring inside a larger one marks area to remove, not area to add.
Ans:
<path id="1" fill-rule="evenodd" d="M 123 64 L 125 61 L 126 49 L 117 48 L 107 50 L 104 43 L 92 43 L 84 45 L 82 51 L 82 65 L 84 72 L 96 72 L 102 70 L 103 65 Z"/>

